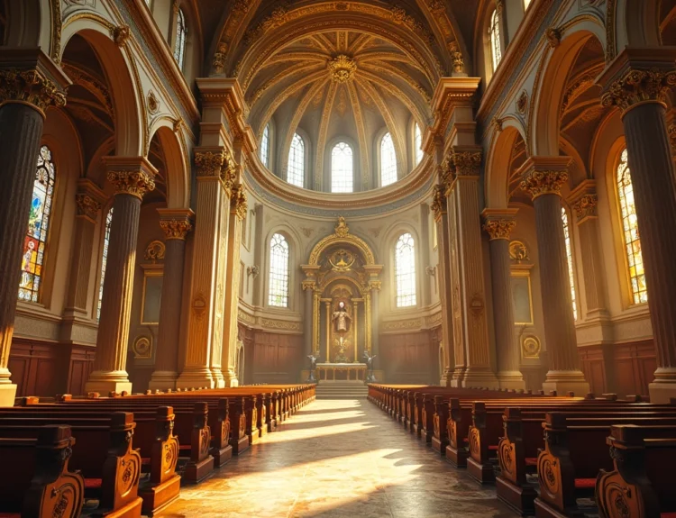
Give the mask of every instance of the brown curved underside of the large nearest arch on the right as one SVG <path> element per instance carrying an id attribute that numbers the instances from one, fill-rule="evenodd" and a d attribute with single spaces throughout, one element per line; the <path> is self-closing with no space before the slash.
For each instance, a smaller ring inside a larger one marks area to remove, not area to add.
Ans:
<path id="1" fill-rule="evenodd" d="M 574 67 L 579 50 L 589 38 L 596 38 L 605 49 L 606 36 L 602 23 L 589 17 L 575 19 L 565 28 L 561 43 L 544 56 L 544 74 L 534 86 L 534 109 L 530 114 L 531 141 L 526 141 L 533 156 L 559 155 L 559 113 L 566 80 Z"/>

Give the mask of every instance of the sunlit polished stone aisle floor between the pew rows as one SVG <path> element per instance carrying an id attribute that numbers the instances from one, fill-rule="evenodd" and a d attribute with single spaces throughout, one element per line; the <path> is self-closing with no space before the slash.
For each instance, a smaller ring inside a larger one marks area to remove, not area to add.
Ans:
<path id="1" fill-rule="evenodd" d="M 365 399 L 317 400 L 198 486 L 163 518 L 514 518 Z"/>

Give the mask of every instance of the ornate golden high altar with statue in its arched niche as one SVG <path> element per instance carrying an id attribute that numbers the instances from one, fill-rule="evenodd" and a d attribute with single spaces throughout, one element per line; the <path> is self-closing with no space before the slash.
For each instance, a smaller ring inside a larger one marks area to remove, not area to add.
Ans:
<path id="1" fill-rule="evenodd" d="M 364 352 L 378 354 L 379 274 L 369 245 L 350 233 L 343 217 L 302 266 L 306 274 L 306 354 L 319 359 L 320 380 L 361 380 Z"/>

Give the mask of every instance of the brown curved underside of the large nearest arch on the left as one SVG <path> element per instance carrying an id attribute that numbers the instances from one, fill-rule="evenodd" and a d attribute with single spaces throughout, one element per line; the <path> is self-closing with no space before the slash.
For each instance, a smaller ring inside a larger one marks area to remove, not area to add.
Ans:
<path id="1" fill-rule="evenodd" d="M 61 53 L 75 35 L 83 37 L 95 50 L 96 56 L 105 71 L 115 114 L 115 155 L 121 157 L 140 157 L 143 152 L 142 93 L 139 93 L 135 81 L 135 64 L 128 51 L 113 41 L 117 29 L 113 23 L 92 14 L 72 17 L 63 26 Z M 124 48 L 124 43 L 122 44 Z"/>

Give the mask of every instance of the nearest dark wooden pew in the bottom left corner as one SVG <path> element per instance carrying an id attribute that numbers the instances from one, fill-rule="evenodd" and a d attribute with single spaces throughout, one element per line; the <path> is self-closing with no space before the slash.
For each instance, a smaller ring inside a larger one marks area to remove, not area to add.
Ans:
<path id="1" fill-rule="evenodd" d="M 75 438 L 69 426 L 47 425 L 35 439 L 0 439 L 0 514 L 7 518 L 77 518 L 85 481 L 69 471 Z"/>

